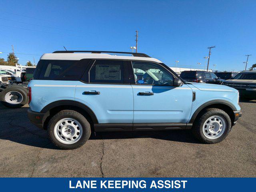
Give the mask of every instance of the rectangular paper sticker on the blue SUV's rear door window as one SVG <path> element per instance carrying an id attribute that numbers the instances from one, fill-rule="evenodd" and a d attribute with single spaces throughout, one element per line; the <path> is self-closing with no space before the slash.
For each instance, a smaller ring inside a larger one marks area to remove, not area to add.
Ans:
<path id="1" fill-rule="evenodd" d="M 120 65 L 96 65 L 95 80 L 121 80 Z"/>

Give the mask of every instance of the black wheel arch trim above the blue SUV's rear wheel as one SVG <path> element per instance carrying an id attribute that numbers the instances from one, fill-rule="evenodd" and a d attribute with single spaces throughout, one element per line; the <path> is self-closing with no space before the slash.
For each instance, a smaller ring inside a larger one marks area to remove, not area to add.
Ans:
<path id="1" fill-rule="evenodd" d="M 90 117 L 92 118 L 92 121 L 94 123 L 98 124 L 98 119 L 97 119 L 96 115 L 94 114 L 94 112 L 85 104 L 82 104 L 82 103 L 80 103 L 78 101 L 74 101 L 74 100 L 59 100 L 59 101 L 52 102 L 52 103 L 46 105 L 40 112 L 46 113 L 46 112 L 50 111 L 52 108 L 55 108 L 58 106 L 75 106 L 75 107 L 81 108 L 82 110 L 86 111 L 90 115 Z"/>

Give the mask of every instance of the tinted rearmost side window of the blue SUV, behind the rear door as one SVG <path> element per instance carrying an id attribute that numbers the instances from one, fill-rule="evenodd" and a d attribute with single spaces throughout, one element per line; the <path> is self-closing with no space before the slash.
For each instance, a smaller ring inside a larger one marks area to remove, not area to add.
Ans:
<path id="1" fill-rule="evenodd" d="M 81 78 L 90 59 L 40 60 L 34 72 L 36 80 L 77 81 Z"/>

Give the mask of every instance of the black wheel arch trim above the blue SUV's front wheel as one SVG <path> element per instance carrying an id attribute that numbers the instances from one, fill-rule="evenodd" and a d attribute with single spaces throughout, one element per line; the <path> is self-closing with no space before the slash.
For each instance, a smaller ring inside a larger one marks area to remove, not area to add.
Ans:
<path id="1" fill-rule="evenodd" d="M 228 102 L 226 100 L 220 100 L 220 99 L 211 100 L 211 101 L 208 101 L 208 102 L 202 104 L 200 107 L 197 108 L 197 110 L 192 115 L 189 123 L 194 122 L 194 120 L 196 119 L 196 116 L 200 113 L 200 111 L 203 108 L 206 108 L 207 106 L 210 106 L 210 105 L 213 105 L 213 104 L 223 104 L 223 105 L 226 105 L 226 106 L 230 107 L 233 111 L 236 111 L 236 107 L 231 102 Z"/>

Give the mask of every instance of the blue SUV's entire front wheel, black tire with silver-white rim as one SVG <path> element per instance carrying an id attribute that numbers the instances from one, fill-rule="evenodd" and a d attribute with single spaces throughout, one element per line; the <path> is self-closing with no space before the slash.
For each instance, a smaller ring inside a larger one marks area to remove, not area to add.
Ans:
<path id="1" fill-rule="evenodd" d="M 228 136 L 231 120 L 226 112 L 218 108 L 209 108 L 200 114 L 192 127 L 192 132 L 206 144 L 221 142 Z"/>

